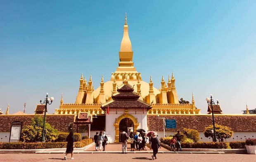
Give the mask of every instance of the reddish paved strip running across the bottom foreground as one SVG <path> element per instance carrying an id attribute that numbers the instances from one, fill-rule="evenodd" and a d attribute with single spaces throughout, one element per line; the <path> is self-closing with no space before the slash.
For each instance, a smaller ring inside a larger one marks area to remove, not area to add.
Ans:
<path id="1" fill-rule="evenodd" d="M 1 162 L 149 162 L 152 153 L 75 153 L 73 160 L 65 154 L 0 154 Z M 256 155 L 247 154 L 165 154 L 158 153 L 154 162 L 255 162 Z"/>

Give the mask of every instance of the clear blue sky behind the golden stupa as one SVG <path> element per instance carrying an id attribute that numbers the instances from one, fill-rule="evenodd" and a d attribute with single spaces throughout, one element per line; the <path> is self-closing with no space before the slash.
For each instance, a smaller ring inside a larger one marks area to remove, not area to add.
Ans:
<path id="1" fill-rule="evenodd" d="M 74 103 L 81 73 L 109 81 L 127 12 L 133 62 L 154 87 L 173 72 L 178 98 L 206 113 L 213 94 L 225 114 L 256 108 L 255 0 L 0 0 L 0 108 L 49 113 Z"/>

